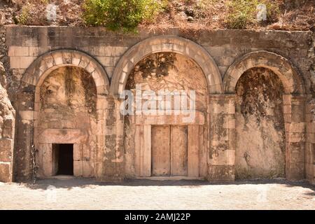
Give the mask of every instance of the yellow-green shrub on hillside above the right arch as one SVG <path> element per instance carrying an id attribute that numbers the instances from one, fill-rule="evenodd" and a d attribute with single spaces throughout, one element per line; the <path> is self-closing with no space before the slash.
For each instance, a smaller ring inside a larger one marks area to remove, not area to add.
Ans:
<path id="1" fill-rule="evenodd" d="M 276 22 L 279 18 L 279 2 L 272 0 L 231 0 L 228 1 L 228 16 L 225 24 L 230 29 L 245 29 L 248 25 L 255 25 L 256 8 L 258 4 L 267 6 L 267 22 Z"/>

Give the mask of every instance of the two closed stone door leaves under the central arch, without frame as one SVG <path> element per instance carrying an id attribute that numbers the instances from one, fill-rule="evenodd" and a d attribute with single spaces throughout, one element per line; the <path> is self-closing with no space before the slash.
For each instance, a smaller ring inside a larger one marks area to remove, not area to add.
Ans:
<path id="1" fill-rule="evenodd" d="M 153 125 L 152 176 L 188 176 L 188 126 Z"/>

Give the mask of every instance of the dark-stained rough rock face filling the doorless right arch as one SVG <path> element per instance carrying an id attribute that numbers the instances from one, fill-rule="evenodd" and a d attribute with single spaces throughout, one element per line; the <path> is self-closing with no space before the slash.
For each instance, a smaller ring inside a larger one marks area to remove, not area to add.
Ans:
<path id="1" fill-rule="evenodd" d="M 239 79 L 236 92 L 236 178 L 284 176 L 281 80 L 268 69 L 250 69 Z"/>

